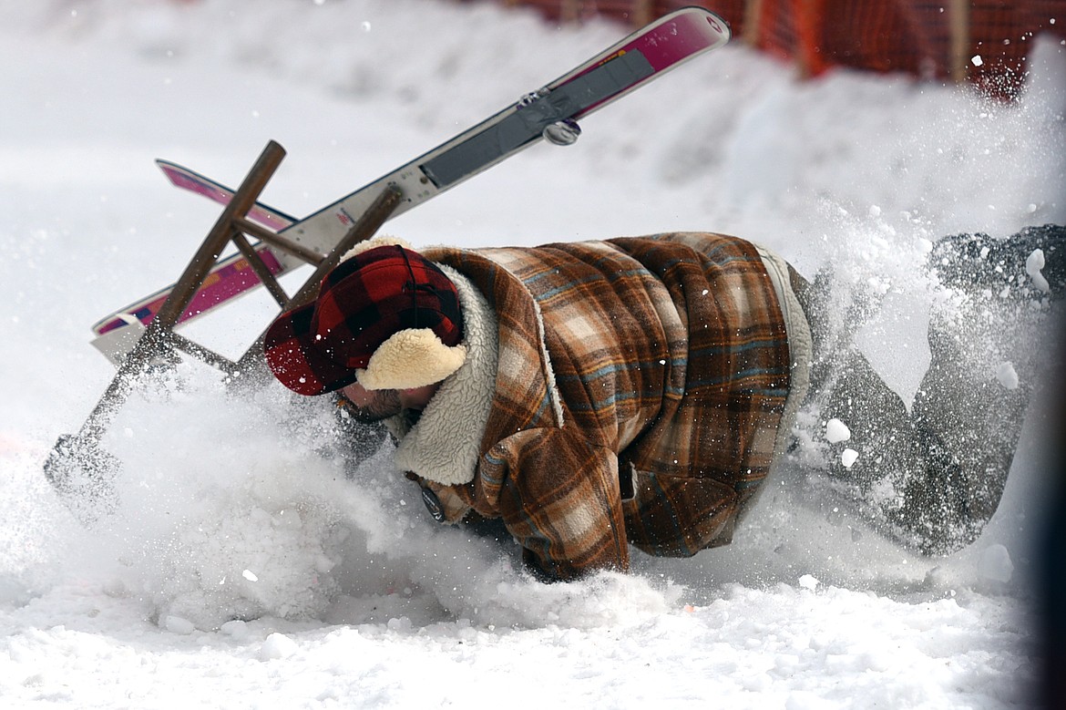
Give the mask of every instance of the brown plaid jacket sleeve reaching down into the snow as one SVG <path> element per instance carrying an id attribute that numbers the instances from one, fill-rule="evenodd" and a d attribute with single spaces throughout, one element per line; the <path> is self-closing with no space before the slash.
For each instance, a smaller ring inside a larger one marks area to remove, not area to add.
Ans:
<path id="1" fill-rule="evenodd" d="M 529 430 L 497 443 L 480 473 L 483 493 L 497 500 L 523 560 L 539 577 L 568 580 L 629 568 L 613 451 L 569 430 Z"/>

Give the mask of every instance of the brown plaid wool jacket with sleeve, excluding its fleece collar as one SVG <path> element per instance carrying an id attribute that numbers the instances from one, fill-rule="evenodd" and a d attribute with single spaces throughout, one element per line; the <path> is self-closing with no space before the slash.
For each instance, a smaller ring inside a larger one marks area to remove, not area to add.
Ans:
<path id="1" fill-rule="evenodd" d="M 688 556 L 729 543 L 790 384 L 750 243 L 672 233 L 424 254 L 477 286 L 499 329 L 472 481 L 420 480 L 440 518 L 502 518 L 526 562 L 560 579 L 628 568 L 629 544 Z"/>

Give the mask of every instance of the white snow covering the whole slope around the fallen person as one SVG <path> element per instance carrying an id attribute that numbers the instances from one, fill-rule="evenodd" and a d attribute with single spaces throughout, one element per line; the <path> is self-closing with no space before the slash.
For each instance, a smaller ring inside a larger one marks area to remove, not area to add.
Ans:
<path id="1" fill-rule="evenodd" d="M 1059 18 L 1066 21 L 1066 18 Z M 183 366 L 122 410 L 118 512 L 80 528 L 42 463 L 113 370 L 108 311 L 174 280 L 217 211 L 163 157 L 304 214 L 614 42 L 609 23 L 430 0 L 0 6 L 0 707 L 1024 706 L 1047 491 L 1041 413 L 948 559 L 815 513 L 785 471 L 725 549 L 542 585 L 441 529 L 384 455 L 345 480 L 328 413 Z M 909 401 L 930 240 L 1066 221 L 1066 47 L 1017 104 L 908 78 L 797 83 L 701 58 L 388 225 L 415 244 L 737 233 L 885 294 L 857 337 Z M 199 332 L 236 348 L 259 302 Z"/>

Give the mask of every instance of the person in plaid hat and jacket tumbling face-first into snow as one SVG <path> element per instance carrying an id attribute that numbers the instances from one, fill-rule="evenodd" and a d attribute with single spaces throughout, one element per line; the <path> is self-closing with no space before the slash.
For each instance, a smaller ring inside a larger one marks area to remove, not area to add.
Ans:
<path id="1" fill-rule="evenodd" d="M 964 328 L 934 318 L 909 412 L 834 336 L 825 278 L 715 233 L 421 252 L 376 238 L 273 323 L 265 356 L 288 388 L 384 420 L 435 519 L 501 520 L 546 579 L 627 569 L 630 545 L 728 544 L 805 402 L 850 427 L 830 480 L 884 532 L 941 553 L 999 502 L 1064 231 L 934 245 L 940 281 L 971 294 L 954 312 L 972 312 Z"/>

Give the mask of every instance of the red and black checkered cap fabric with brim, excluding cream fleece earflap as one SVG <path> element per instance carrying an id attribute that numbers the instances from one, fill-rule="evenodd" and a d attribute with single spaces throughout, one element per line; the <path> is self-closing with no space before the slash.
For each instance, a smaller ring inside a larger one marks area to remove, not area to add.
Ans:
<path id="1" fill-rule="evenodd" d="M 462 341 L 455 286 L 417 252 L 389 244 L 337 264 L 313 303 L 274 321 L 263 346 L 281 384 L 323 394 L 356 382 L 357 371 L 393 335 L 426 328 L 443 346 Z"/>

